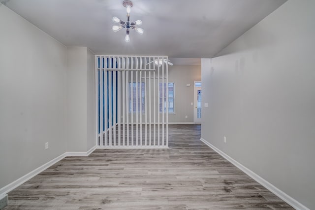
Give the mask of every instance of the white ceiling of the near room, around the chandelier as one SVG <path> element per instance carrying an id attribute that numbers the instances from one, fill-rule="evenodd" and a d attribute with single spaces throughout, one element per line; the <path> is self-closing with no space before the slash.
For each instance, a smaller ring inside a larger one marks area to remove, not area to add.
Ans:
<path id="1" fill-rule="evenodd" d="M 96 54 L 211 58 L 286 0 L 133 0 L 130 19 L 143 35 L 114 33 L 122 0 L 0 0 L 65 46 Z"/>

